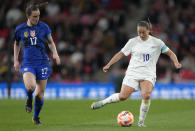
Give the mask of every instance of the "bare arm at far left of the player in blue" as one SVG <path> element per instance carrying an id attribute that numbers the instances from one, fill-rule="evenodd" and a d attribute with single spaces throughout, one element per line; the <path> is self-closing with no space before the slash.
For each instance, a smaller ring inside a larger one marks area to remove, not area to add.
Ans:
<path id="1" fill-rule="evenodd" d="M 19 71 L 19 61 L 18 56 L 20 52 L 21 44 L 18 41 L 14 41 L 14 69 Z"/>

